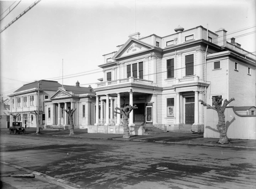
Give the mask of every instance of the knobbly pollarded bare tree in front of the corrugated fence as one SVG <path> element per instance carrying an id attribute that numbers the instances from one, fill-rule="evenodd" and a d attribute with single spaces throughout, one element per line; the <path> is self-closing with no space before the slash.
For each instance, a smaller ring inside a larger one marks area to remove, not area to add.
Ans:
<path id="1" fill-rule="evenodd" d="M 217 124 L 217 127 L 219 128 L 219 142 L 221 144 L 226 144 L 229 143 L 229 140 L 227 138 L 227 127 L 226 127 L 226 122 L 225 122 L 225 114 L 224 111 L 226 109 L 227 104 L 231 103 L 233 100 L 235 100 L 234 98 L 231 98 L 230 100 L 225 100 L 223 105 L 222 104 L 222 98 L 221 96 L 218 96 L 217 99 L 215 99 L 214 97 L 212 97 L 212 105 L 210 106 L 209 104 L 206 104 L 204 101 L 199 100 L 201 102 L 201 104 L 203 104 L 204 106 L 207 106 L 208 108 L 214 109 L 217 111 L 218 113 L 218 117 L 219 117 L 219 123 Z"/>

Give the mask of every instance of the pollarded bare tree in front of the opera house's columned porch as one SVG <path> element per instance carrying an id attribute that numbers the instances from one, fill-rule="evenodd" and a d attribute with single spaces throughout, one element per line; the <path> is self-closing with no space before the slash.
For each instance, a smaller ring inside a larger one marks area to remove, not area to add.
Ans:
<path id="1" fill-rule="evenodd" d="M 128 118 L 129 114 L 133 109 L 138 109 L 136 105 L 131 106 L 130 104 L 128 106 L 125 106 L 124 108 L 118 108 L 116 109 L 120 110 L 120 113 L 115 111 L 115 113 L 121 114 L 123 116 L 123 138 L 130 138 L 130 133 L 129 133 L 129 126 L 128 126 Z"/>

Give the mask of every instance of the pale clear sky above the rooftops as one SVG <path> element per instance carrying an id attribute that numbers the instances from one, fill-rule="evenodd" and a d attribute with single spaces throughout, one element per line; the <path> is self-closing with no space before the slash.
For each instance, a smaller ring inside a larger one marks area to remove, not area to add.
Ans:
<path id="1" fill-rule="evenodd" d="M 34 2 L 0 0 L 0 29 Z M 178 25 L 225 28 L 227 38 L 256 54 L 255 10 L 255 0 L 41 0 L 0 33 L 0 94 L 8 98 L 35 80 L 62 84 L 62 76 L 64 85 L 94 88 L 103 78 L 102 55 L 135 32 L 163 37 Z"/>

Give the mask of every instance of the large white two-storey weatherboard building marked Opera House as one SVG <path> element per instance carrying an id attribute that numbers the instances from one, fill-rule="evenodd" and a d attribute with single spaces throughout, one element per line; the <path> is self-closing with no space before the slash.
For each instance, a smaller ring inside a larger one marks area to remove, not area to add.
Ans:
<path id="1" fill-rule="evenodd" d="M 145 134 L 149 125 L 204 132 L 207 109 L 199 99 L 212 104 L 212 97 L 220 95 L 236 99 L 229 106 L 255 106 L 256 55 L 224 28 L 179 26 L 175 32 L 164 37 L 137 32 L 103 55 L 103 78 L 94 88 L 96 120 L 89 133 L 122 134 L 123 120 L 114 111 L 126 104 L 138 106 L 130 113 L 132 134 Z"/>

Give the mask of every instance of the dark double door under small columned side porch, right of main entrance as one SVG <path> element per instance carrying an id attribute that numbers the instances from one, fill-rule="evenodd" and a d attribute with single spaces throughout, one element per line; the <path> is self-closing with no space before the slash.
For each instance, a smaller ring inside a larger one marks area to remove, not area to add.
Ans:
<path id="1" fill-rule="evenodd" d="M 185 103 L 185 124 L 193 124 L 194 123 L 194 112 L 195 112 L 195 98 L 190 97 L 186 98 Z"/>

